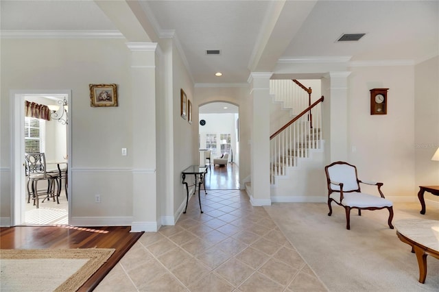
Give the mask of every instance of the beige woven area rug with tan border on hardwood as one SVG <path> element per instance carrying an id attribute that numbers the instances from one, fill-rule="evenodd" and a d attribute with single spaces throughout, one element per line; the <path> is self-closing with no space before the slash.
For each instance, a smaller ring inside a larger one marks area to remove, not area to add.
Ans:
<path id="1" fill-rule="evenodd" d="M 0 291 L 77 291 L 114 249 L 0 250 Z"/>

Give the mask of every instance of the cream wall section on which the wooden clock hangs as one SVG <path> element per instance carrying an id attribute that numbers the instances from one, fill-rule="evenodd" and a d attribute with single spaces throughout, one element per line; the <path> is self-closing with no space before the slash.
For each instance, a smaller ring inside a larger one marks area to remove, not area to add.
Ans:
<path id="1" fill-rule="evenodd" d="M 348 78 L 348 160 L 386 197 L 413 197 L 414 66 L 353 67 Z M 370 89 L 390 88 L 385 115 L 370 114 Z M 361 186 L 368 191 L 366 186 Z M 374 189 L 374 191 L 376 191 Z"/>

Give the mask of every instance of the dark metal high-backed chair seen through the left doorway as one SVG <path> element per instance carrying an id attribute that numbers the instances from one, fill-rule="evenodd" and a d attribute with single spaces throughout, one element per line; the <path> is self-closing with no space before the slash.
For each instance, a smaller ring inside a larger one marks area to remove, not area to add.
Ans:
<path id="1" fill-rule="evenodd" d="M 34 199 L 34 206 L 39 208 L 39 199 L 44 196 L 43 202 L 45 199 L 53 198 L 56 202 L 60 204 L 58 200 L 59 190 L 60 190 L 60 174 L 57 172 L 46 172 L 46 159 L 44 153 L 32 153 L 25 154 L 25 162 L 27 169 L 27 202 L 30 202 L 30 197 Z M 38 182 L 47 181 L 47 188 L 38 189 Z M 30 188 L 29 188 L 30 184 Z M 57 192 L 55 193 L 55 184 L 57 184 Z"/>

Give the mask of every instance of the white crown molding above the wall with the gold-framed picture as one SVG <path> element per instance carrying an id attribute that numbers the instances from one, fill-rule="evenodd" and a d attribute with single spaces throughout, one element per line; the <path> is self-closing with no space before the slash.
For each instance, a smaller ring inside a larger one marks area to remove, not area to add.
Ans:
<path id="1" fill-rule="evenodd" d="M 1 30 L 1 38 L 125 38 L 118 30 Z"/>

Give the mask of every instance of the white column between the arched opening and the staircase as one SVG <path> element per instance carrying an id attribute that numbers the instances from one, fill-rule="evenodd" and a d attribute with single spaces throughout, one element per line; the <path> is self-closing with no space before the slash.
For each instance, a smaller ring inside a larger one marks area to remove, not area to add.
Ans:
<path id="1" fill-rule="evenodd" d="M 251 73 L 252 99 L 251 184 L 253 206 L 270 206 L 270 77 L 272 73 Z"/>

